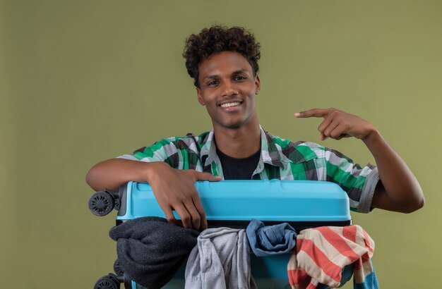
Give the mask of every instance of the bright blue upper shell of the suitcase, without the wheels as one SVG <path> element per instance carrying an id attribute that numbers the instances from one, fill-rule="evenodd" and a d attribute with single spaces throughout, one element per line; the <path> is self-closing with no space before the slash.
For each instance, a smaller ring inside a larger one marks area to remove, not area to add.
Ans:
<path id="1" fill-rule="evenodd" d="M 339 185 L 315 180 L 221 180 L 196 182 L 208 223 L 250 221 L 313 222 L 314 226 L 334 226 L 329 222 L 351 220 L 347 193 Z M 165 217 L 150 185 L 129 182 L 121 194 L 117 220 L 141 216 Z M 174 212 L 177 219 L 178 214 Z M 323 225 L 321 225 L 323 223 Z M 225 225 L 227 226 L 227 225 Z M 234 226 L 235 227 L 235 226 Z M 238 227 L 238 226 L 236 226 Z M 241 226 L 240 226 L 241 227 Z M 311 227 L 306 226 L 306 227 Z"/>

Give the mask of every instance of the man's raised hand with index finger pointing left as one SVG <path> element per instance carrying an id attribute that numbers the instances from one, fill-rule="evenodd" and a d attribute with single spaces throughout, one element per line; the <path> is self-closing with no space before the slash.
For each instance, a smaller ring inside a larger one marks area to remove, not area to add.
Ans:
<path id="1" fill-rule="evenodd" d="M 340 111 L 338 109 L 309 109 L 294 113 L 297 118 L 324 118 L 324 121 L 318 126 L 319 138 L 321 140 L 331 137 L 334 140 L 340 140 L 342 137 L 356 137 L 364 140 L 376 129 L 371 123 L 364 121 L 359 116 Z"/>

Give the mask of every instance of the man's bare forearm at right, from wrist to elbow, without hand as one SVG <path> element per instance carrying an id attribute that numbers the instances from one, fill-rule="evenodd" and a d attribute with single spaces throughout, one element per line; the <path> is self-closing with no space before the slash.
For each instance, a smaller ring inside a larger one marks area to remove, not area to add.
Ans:
<path id="1" fill-rule="evenodd" d="M 424 195 L 405 161 L 374 129 L 363 139 L 373 154 L 382 185 L 376 187 L 372 207 L 409 213 L 424 205 Z"/>

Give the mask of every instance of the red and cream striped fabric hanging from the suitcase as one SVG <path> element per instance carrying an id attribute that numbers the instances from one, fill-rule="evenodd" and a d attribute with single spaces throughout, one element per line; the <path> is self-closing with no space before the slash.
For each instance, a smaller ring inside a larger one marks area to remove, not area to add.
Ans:
<path id="1" fill-rule="evenodd" d="M 374 241 L 360 226 L 320 227 L 301 230 L 296 250 L 287 264 L 292 289 L 338 288 L 342 269 L 353 264 L 354 288 L 377 289 L 371 265 Z"/>

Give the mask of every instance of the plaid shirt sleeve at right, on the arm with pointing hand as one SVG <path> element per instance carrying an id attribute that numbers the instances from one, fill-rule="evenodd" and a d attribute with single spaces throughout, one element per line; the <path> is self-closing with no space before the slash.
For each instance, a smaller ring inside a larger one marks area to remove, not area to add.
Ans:
<path id="1" fill-rule="evenodd" d="M 338 183 L 350 198 L 350 209 L 360 213 L 371 211 L 371 201 L 378 183 L 378 168 L 362 167 L 334 149 L 325 148 L 326 180 Z"/>

